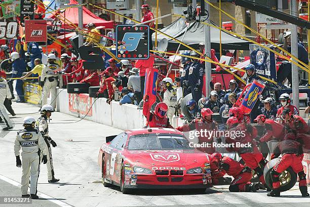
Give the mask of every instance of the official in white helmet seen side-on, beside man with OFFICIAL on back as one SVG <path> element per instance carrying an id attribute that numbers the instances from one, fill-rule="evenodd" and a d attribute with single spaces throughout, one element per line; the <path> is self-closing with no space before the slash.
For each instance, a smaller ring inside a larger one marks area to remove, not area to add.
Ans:
<path id="1" fill-rule="evenodd" d="M 41 108 L 41 116 L 37 119 L 35 122 L 35 129 L 37 129 L 39 132 L 41 132 L 44 141 L 45 146 L 47 148 L 47 172 L 48 172 L 48 182 L 49 183 L 56 183 L 59 181 L 59 179 L 54 177 L 54 165 L 53 165 L 53 157 L 52 157 L 52 149 L 51 145 L 53 147 L 56 147 L 57 144 L 54 140 L 51 139 L 49 136 L 49 125 L 47 120 L 50 119 L 52 112 L 54 112 L 54 108 L 50 105 L 44 105 Z"/>

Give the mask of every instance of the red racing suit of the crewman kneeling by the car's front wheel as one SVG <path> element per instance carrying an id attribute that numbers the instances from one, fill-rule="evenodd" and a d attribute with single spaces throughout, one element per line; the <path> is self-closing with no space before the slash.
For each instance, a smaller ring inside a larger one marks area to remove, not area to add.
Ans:
<path id="1" fill-rule="evenodd" d="M 244 167 L 240 162 L 231 159 L 230 157 L 223 156 L 222 159 L 220 159 L 218 166 L 216 165 L 216 162 L 211 162 L 210 167 L 213 184 L 217 184 L 218 179 L 225 174 L 234 177 L 229 189 L 234 188 L 234 185 L 237 185 L 236 187 L 238 187 L 239 191 L 244 192 L 246 191 L 246 184 L 251 184 L 251 169 Z"/>

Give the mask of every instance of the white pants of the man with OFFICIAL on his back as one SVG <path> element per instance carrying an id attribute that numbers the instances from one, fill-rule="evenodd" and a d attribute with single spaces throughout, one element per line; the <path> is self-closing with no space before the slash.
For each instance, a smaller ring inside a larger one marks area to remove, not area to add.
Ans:
<path id="1" fill-rule="evenodd" d="M 21 193 L 28 194 L 29 176 L 30 176 L 30 194 L 36 194 L 37 179 L 40 173 L 40 157 L 37 153 L 22 154 L 22 180 Z"/>

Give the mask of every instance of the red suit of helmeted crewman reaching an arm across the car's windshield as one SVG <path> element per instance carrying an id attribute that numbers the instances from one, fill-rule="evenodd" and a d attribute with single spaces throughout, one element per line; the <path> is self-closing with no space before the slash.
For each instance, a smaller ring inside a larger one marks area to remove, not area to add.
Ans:
<path id="1" fill-rule="evenodd" d="M 198 136 L 198 143 L 209 143 L 209 146 L 197 147 L 197 149 L 208 154 L 212 154 L 213 152 L 215 152 L 215 147 L 213 146 L 213 136 L 202 136 L 204 134 L 203 132 L 213 131 L 215 133 L 217 131 L 218 127 L 215 121 L 206 121 L 203 118 L 195 118 L 188 125 L 183 125 L 182 127 L 178 127 L 176 129 L 180 132 L 189 132 L 192 130 L 197 130 L 198 132 L 201 132 Z"/>

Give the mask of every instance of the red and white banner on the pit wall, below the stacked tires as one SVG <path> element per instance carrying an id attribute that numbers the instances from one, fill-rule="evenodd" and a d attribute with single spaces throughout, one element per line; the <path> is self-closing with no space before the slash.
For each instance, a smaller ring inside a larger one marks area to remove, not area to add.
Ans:
<path id="1" fill-rule="evenodd" d="M 69 111 L 72 113 L 81 113 L 83 115 L 92 116 L 93 98 L 88 94 L 69 94 Z"/>

